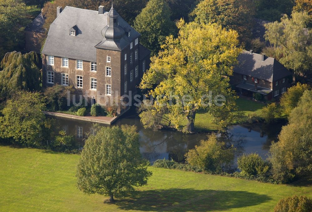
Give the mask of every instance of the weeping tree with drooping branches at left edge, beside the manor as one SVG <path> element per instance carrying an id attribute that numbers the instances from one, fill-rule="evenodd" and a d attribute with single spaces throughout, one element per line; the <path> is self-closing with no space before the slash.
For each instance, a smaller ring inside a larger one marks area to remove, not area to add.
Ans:
<path id="1" fill-rule="evenodd" d="M 0 64 L 0 100 L 8 99 L 19 90 L 40 89 L 39 58 L 36 52 L 8 52 Z"/>

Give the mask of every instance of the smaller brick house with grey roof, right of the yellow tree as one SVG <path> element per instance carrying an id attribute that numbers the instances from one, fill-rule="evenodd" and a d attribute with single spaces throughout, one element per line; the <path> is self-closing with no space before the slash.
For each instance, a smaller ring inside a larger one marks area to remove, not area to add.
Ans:
<path id="1" fill-rule="evenodd" d="M 266 55 L 243 51 L 237 58 L 230 83 L 240 94 L 262 94 L 266 100 L 279 98 L 292 83 L 292 73 Z"/>

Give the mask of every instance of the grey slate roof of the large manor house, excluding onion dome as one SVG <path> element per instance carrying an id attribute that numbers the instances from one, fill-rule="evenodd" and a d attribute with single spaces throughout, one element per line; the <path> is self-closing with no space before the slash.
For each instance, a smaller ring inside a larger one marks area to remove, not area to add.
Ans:
<path id="1" fill-rule="evenodd" d="M 121 17 L 119 26 L 131 29 L 131 36 L 124 36 L 121 42 L 108 41 L 103 38 L 102 30 L 108 24 L 108 12 L 98 14 L 98 11 L 85 10 L 66 6 L 50 26 L 46 43 L 42 53 L 72 59 L 96 61 L 96 48 L 120 51 L 130 41 L 134 41 L 140 34 L 135 31 Z M 76 36 L 70 35 L 70 29 L 77 26 Z M 105 44 L 104 44 L 104 42 Z"/>

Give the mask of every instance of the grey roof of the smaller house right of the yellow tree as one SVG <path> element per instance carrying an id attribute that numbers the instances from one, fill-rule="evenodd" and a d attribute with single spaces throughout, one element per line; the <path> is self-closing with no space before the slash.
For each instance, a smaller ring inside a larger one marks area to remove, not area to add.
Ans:
<path id="1" fill-rule="evenodd" d="M 243 51 L 238 57 L 238 65 L 233 69 L 235 73 L 274 82 L 278 79 L 292 75 L 282 64 L 271 57 L 262 61 L 262 55 Z"/>

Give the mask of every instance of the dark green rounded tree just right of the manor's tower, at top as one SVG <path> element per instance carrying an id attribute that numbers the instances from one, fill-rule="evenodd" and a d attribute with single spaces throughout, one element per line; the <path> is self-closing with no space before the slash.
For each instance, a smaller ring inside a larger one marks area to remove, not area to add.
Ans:
<path id="1" fill-rule="evenodd" d="M 156 55 L 166 36 L 175 31 L 171 10 L 165 0 L 150 0 L 135 18 L 134 29 L 141 33 L 140 43 Z"/>

